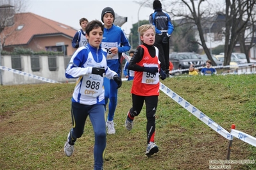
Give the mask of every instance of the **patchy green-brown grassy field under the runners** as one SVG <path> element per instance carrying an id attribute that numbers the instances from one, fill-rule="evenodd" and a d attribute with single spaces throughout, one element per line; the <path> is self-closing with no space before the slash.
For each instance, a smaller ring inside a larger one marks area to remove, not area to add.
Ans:
<path id="1" fill-rule="evenodd" d="M 256 136 L 256 75 L 175 77 L 162 81 L 187 102 L 230 132 Z M 145 108 L 131 131 L 124 121 L 132 106 L 132 82 L 119 89 L 116 134 L 107 135 L 104 169 L 209 169 L 210 160 L 226 160 L 228 140 L 160 91 L 155 143 L 146 157 Z M 0 86 L 0 169 L 93 169 L 94 134 L 87 120 L 71 157 L 64 143 L 71 128 L 74 84 Z M 255 160 L 256 148 L 234 138 L 230 160 Z M 219 165 L 219 164 L 216 164 Z M 230 164 L 256 169 L 255 164 Z"/>

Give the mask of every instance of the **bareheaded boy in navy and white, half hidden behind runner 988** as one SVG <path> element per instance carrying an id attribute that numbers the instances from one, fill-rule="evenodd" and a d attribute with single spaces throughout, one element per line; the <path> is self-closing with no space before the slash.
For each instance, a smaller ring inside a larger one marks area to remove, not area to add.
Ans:
<path id="1" fill-rule="evenodd" d="M 78 49 L 78 47 L 87 45 L 87 39 L 85 37 L 85 27 L 88 24 L 88 20 L 85 18 L 81 18 L 79 20 L 79 24 L 81 26 L 81 29 L 76 32 L 72 40 L 72 47 L 74 49 Z"/>

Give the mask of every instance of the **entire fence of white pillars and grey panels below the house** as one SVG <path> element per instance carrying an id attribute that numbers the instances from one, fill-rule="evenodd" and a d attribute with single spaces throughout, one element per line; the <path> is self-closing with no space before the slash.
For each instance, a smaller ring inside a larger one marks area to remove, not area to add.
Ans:
<path id="1" fill-rule="evenodd" d="M 40 77 L 56 82 L 76 81 L 65 77 L 65 68 L 71 59 L 68 56 L 1 56 L 1 59 L 1 85 L 44 82 Z"/>

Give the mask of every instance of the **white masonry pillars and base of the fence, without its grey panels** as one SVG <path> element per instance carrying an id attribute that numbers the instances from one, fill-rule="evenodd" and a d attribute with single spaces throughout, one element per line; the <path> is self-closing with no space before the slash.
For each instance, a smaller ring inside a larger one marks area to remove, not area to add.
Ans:
<path id="1" fill-rule="evenodd" d="M 1 56 L 2 58 L 2 66 L 12 68 L 12 59 L 11 56 Z M 46 79 L 51 79 L 57 82 L 75 82 L 76 79 L 67 79 L 65 78 L 65 64 L 64 64 L 64 56 L 56 57 L 56 71 L 50 71 L 48 66 L 48 57 L 40 56 L 40 71 L 33 72 L 31 69 L 31 61 L 30 56 L 21 56 L 21 68 L 22 72 L 29 73 L 31 75 L 37 75 L 39 77 L 44 77 Z M 38 80 L 33 76 L 25 76 L 22 74 L 13 73 L 13 70 L 3 70 L 1 71 L 1 84 L 2 85 L 14 85 L 14 84 L 38 84 L 38 83 L 46 83 L 46 81 Z"/>

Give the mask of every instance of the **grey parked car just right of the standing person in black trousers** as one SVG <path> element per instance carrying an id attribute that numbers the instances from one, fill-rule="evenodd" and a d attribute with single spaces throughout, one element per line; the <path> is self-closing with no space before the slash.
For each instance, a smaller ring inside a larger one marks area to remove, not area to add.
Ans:
<path id="1" fill-rule="evenodd" d="M 200 67 L 205 64 L 203 59 L 198 58 L 198 56 L 196 56 L 196 54 L 193 52 L 177 52 L 169 54 L 169 61 L 173 63 L 173 70 L 187 69 L 190 65 L 194 65 L 194 67 Z"/>

